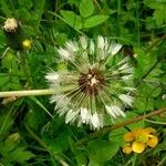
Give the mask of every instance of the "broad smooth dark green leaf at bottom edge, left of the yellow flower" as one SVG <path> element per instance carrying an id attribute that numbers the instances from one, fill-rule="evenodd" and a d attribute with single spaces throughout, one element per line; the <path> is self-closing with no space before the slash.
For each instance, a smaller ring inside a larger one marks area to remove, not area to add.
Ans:
<path id="1" fill-rule="evenodd" d="M 110 160 L 118 151 L 118 145 L 108 141 L 91 141 L 87 144 L 90 165 L 103 165 Z"/>

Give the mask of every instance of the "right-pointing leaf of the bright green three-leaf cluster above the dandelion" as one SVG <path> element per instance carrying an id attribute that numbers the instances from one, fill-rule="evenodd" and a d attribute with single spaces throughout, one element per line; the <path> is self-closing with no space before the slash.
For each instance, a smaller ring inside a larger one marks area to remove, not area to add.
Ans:
<path id="1" fill-rule="evenodd" d="M 93 28 L 96 27 L 108 19 L 108 15 L 93 15 L 87 18 L 84 23 L 84 28 Z"/>

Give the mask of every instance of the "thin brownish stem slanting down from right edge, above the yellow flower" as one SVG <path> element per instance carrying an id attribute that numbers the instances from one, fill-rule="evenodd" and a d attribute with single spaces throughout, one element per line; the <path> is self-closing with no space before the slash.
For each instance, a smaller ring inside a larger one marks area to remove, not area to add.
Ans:
<path id="1" fill-rule="evenodd" d="M 135 117 L 133 120 L 125 121 L 123 123 L 118 123 L 118 124 L 114 124 L 114 125 L 108 125 L 108 126 L 102 128 L 101 131 L 94 132 L 89 137 L 81 138 L 80 141 L 76 142 L 76 145 L 85 144 L 85 143 L 87 143 L 91 139 L 96 138 L 96 137 L 98 137 L 101 135 L 105 135 L 106 133 L 110 133 L 110 132 L 112 132 L 114 129 L 117 129 L 117 128 L 124 127 L 126 125 L 139 122 L 139 121 L 145 120 L 145 118 L 151 117 L 151 116 L 155 116 L 155 115 L 162 114 L 164 112 L 166 112 L 166 107 L 157 110 L 157 111 L 153 111 L 153 112 L 151 112 L 148 114 L 145 114 L 145 115 L 142 115 L 142 116 L 137 116 L 137 117 Z"/>

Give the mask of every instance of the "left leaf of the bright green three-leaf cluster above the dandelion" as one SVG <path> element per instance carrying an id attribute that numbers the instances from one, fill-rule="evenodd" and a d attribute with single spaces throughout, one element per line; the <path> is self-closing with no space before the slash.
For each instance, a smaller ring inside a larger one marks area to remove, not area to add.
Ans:
<path id="1" fill-rule="evenodd" d="M 68 23 L 74 29 L 82 29 L 82 20 L 80 15 L 75 14 L 73 11 L 61 10 L 60 12 L 65 23 Z"/>

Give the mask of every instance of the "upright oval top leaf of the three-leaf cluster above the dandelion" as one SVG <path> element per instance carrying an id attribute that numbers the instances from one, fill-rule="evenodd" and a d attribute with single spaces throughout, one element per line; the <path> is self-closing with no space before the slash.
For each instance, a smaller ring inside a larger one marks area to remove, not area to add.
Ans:
<path id="1" fill-rule="evenodd" d="M 92 0 L 82 0 L 79 6 L 80 13 L 83 18 L 90 17 L 94 11 Z"/>

